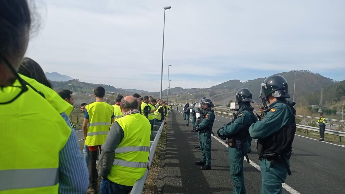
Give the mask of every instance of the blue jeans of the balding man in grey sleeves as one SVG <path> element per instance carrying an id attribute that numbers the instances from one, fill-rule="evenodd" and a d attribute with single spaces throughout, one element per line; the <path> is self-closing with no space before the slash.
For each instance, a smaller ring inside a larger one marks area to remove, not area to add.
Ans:
<path id="1" fill-rule="evenodd" d="M 133 186 L 126 186 L 109 181 L 108 178 L 102 178 L 99 187 L 100 194 L 127 194 L 132 190 Z"/>

